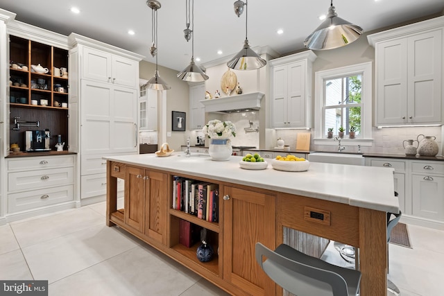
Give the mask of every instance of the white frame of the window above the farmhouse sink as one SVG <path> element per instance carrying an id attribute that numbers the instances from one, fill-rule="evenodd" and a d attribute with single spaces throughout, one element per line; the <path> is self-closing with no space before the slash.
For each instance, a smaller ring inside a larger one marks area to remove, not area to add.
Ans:
<path id="1" fill-rule="evenodd" d="M 373 114 L 373 69 L 372 62 L 353 64 L 350 66 L 316 71 L 314 74 L 314 143 L 321 145 L 337 145 L 336 141 L 327 139 L 325 130 L 325 89 L 324 81 L 327 79 L 340 78 L 345 76 L 362 75 L 361 87 L 361 137 L 356 139 L 341 139 L 342 141 L 353 143 L 354 145 L 372 145 L 372 114 Z"/>

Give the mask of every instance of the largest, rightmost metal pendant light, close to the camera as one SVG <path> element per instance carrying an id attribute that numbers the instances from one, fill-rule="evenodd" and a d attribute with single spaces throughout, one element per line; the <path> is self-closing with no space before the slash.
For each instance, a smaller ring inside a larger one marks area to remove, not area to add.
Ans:
<path id="1" fill-rule="evenodd" d="M 307 37 L 304 45 L 317 51 L 336 49 L 354 42 L 362 32 L 361 27 L 338 17 L 332 0 L 325 21 Z"/>

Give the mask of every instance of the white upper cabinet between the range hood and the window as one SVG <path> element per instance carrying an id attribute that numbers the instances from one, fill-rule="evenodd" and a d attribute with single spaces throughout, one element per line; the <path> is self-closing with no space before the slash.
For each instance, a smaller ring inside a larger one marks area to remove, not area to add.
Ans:
<path id="1" fill-rule="evenodd" d="M 271 128 L 311 128 L 312 51 L 271 60 Z"/>

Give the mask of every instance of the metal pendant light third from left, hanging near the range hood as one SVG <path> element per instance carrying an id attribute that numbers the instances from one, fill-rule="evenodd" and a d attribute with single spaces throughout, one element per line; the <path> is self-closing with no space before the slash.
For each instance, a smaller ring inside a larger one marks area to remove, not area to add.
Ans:
<path id="1" fill-rule="evenodd" d="M 266 60 L 259 57 L 253 49 L 250 49 L 250 44 L 248 44 L 248 0 L 246 2 L 237 0 L 234 2 L 234 13 L 237 17 L 240 17 L 242 12 L 244 12 L 244 6 L 246 7 L 245 15 L 245 42 L 244 48 L 234 55 L 228 63 L 228 67 L 234 70 L 255 70 L 266 65 Z"/>

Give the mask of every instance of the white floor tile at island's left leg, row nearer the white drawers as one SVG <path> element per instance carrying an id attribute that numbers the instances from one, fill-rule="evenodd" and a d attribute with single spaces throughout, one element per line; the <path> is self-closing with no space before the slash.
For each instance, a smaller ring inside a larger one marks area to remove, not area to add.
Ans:
<path id="1" fill-rule="evenodd" d="M 21 247 L 48 241 L 51 238 L 78 232 L 94 225 L 105 225 L 105 218 L 96 211 L 83 207 L 40 219 L 11 224 L 12 231 Z"/>

